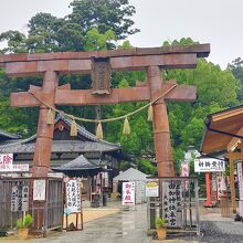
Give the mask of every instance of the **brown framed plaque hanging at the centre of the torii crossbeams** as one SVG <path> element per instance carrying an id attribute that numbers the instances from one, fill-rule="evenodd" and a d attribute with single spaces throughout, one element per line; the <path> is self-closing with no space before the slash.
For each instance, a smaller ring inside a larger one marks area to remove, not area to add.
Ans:
<path id="1" fill-rule="evenodd" d="M 92 94 L 110 94 L 110 74 L 109 57 L 94 57 L 92 60 Z"/>

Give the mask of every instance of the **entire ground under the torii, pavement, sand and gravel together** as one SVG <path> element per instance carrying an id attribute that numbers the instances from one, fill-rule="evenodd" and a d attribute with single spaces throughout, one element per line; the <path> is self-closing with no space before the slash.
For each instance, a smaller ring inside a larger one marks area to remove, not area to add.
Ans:
<path id="1" fill-rule="evenodd" d="M 152 240 L 147 236 L 147 205 L 137 205 L 136 210 L 124 211 L 120 202 L 108 203 L 105 208 L 84 209 L 84 230 L 72 232 L 52 232 L 45 239 L 29 239 L 28 241 L 15 237 L 0 239 L 0 243 L 186 243 L 186 242 L 243 242 L 242 222 L 222 218 L 219 209 L 200 208 L 202 226 L 201 236 L 189 236 L 166 241 Z M 212 232 L 211 232 L 212 231 Z M 226 235 L 225 235 L 226 234 Z M 214 236 L 215 237 L 214 237 Z M 230 236 L 228 236 L 230 235 Z M 230 239 L 230 241 L 229 241 Z M 233 240 L 233 241 L 231 241 Z M 240 240 L 240 241 L 237 241 Z"/>

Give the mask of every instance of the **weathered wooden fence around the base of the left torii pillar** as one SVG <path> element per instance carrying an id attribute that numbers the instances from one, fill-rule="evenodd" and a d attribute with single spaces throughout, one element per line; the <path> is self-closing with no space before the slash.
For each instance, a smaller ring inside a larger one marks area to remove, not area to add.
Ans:
<path id="1" fill-rule="evenodd" d="M 32 214 L 33 225 L 38 230 L 62 228 L 63 224 L 63 181 L 60 178 L 46 178 L 46 200 L 44 203 L 32 202 L 33 178 L 0 179 L 0 229 L 13 229 L 17 220 L 23 215 L 22 211 L 13 212 L 12 187 L 28 186 L 29 210 Z M 42 219 L 44 216 L 44 220 Z M 44 224 L 42 223 L 44 222 Z"/>

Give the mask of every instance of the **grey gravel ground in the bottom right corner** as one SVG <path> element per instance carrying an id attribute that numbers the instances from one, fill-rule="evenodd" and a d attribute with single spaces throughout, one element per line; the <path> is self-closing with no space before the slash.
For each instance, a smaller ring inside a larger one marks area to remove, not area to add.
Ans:
<path id="1" fill-rule="evenodd" d="M 200 236 L 183 239 L 210 243 L 243 243 L 243 222 L 202 221 Z M 181 240 L 183 239 L 181 237 Z"/>

